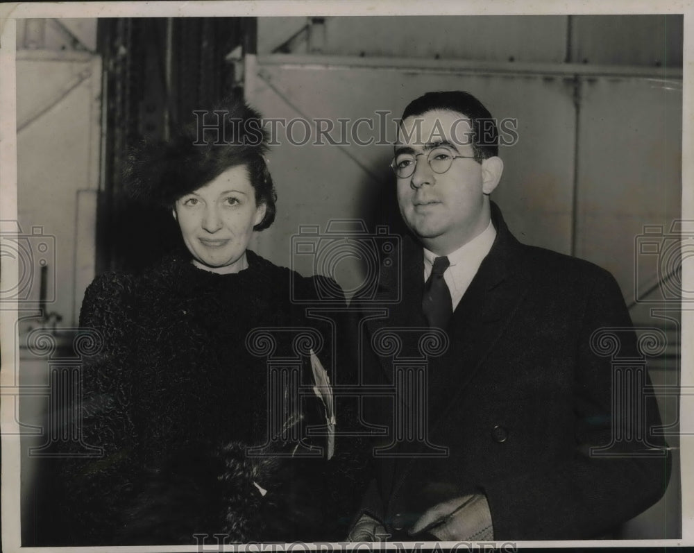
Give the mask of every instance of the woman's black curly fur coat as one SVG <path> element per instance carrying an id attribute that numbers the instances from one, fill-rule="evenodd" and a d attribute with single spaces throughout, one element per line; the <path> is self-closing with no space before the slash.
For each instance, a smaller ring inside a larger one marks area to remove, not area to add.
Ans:
<path id="1" fill-rule="evenodd" d="M 246 454 L 269 437 L 267 359 L 248 351 L 248 332 L 314 327 L 323 354 L 331 347 L 327 325 L 289 301 L 289 269 L 250 251 L 248 265 L 219 275 L 172 257 L 87 289 L 81 327 L 101 332 L 104 345 L 83 364 L 83 436 L 104 453 L 56 461 L 61 530 L 45 545 L 344 538 L 362 487 L 353 445 L 338 439 L 330 461 L 282 456 L 295 450 L 291 439 L 274 441 L 270 456 Z M 294 277 L 304 297 L 313 293 L 313 279 Z M 276 337 L 275 355 L 294 355 L 289 338 Z M 312 385 L 302 366 L 301 384 Z M 324 422 L 323 406 L 305 398 L 285 419 L 304 436 Z"/>

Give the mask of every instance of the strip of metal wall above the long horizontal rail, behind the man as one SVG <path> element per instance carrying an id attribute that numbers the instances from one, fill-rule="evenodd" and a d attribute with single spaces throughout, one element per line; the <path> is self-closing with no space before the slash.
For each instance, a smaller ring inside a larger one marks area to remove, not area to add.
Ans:
<path id="1" fill-rule="evenodd" d="M 682 67 L 682 15 L 258 18 L 260 54 Z M 281 48 L 280 48 L 281 47 Z"/>

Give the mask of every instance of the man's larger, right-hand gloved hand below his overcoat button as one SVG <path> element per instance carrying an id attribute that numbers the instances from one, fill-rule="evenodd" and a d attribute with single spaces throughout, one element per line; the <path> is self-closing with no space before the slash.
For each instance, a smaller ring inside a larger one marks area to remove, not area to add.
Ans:
<path id="1" fill-rule="evenodd" d="M 491 541 L 489 503 L 482 494 L 464 495 L 434 505 L 414 523 L 410 535 L 432 534 L 441 541 Z"/>

